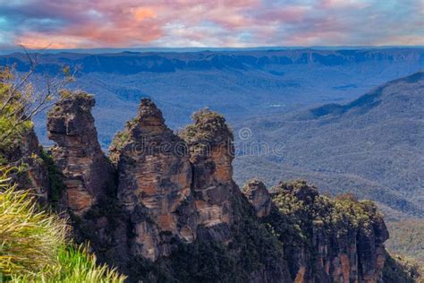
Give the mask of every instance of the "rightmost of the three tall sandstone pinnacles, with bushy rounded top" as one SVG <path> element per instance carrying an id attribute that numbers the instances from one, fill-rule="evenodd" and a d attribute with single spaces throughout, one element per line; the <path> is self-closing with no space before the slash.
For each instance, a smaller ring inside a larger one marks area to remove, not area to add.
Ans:
<path id="1" fill-rule="evenodd" d="M 213 238 L 226 241 L 233 221 L 230 198 L 234 190 L 239 190 L 233 182 L 233 133 L 223 116 L 208 109 L 192 118 L 194 124 L 180 135 L 188 144 L 193 166 L 199 225 L 210 228 Z"/>

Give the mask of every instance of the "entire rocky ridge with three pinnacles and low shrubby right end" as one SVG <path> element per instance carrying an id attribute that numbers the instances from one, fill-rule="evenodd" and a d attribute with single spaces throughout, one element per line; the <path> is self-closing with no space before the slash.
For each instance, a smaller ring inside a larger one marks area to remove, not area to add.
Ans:
<path id="1" fill-rule="evenodd" d="M 47 123 L 53 158 L 81 240 L 130 281 L 380 280 L 388 235 L 371 202 L 304 182 L 268 192 L 252 180 L 240 190 L 225 118 L 203 109 L 175 134 L 150 99 L 115 135 L 109 162 L 93 106 L 83 93 L 59 99 Z"/>

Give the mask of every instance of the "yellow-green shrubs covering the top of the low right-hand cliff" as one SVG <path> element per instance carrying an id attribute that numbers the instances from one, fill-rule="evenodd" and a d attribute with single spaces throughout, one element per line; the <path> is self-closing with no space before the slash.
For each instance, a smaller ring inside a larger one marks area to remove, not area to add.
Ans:
<path id="1" fill-rule="evenodd" d="M 281 183 L 272 189 L 276 210 L 263 219 L 284 244 L 313 249 L 312 231 L 327 236 L 346 236 L 349 231 L 372 229 L 382 219 L 373 202 L 345 194 L 337 198 L 319 195 L 304 181 Z"/>

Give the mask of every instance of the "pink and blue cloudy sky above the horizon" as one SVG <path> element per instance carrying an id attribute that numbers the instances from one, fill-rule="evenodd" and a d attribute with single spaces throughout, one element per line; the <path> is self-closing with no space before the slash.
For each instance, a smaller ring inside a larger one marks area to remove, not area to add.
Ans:
<path id="1" fill-rule="evenodd" d="M 424 0 L 0 0 L 0 48 L 422 46 Z"/>

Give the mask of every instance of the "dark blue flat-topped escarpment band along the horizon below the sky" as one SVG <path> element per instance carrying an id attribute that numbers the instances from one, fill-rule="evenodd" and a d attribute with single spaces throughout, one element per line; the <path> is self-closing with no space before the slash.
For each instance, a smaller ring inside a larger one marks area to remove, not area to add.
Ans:
<path id="1" fill-rule="evenodd" d="M 405 52 L 406 51 L 406 52 Z M 408 55 L 405 55 L 407 53 Z M 368 61 L 424 62 L 421 48 L 388 48 L 360 50 L 251 50 L 251 51 L 199 51 L 192 53 L 122 52 L 111 54 L 33 54 L 37 56 L 38 72 L 59 71 L 60 64 L 79 65 L 82 73 L 106 72 L 133 74 L 140 72 L 172 73 L 177 70 L 210 70 L 233 68 L 245 70 L 249 66 L 265 67 L 269 64 L 323 64 L 366 63 Z M 17 64 L 18 71 L 28 71 L 27 55 L 13 53 L 0 56 L 0 64 Z M 119 61 L 116 60 L 119 58 Z M 56 68 L 53 68 L 54 65 Z M 49 70 L 53 68 L 53 70 Z"/>

